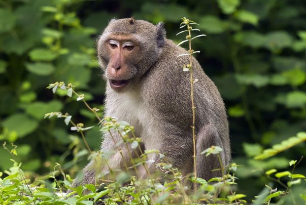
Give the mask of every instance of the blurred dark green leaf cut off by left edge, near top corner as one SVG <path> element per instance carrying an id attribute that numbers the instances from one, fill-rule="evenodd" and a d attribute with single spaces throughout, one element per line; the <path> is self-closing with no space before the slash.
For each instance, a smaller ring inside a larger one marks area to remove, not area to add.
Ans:
<path id="1" fill-rule="evenodd" d="M 0 8 L 0 33 L 10 31 L 16 23 L 16 16 L 9 10 Z"/>

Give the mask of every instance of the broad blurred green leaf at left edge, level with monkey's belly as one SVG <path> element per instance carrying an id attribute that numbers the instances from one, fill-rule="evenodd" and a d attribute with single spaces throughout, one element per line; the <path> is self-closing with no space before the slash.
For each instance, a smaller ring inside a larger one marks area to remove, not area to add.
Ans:
<path id="1" fill-rule="evenodd" d="M 24 137 L 37 129 L 38 122 L 25 114 L 18 113 L 5 119 L 2 126 L 9 131 L 16 131 L 18 137 Z"/>

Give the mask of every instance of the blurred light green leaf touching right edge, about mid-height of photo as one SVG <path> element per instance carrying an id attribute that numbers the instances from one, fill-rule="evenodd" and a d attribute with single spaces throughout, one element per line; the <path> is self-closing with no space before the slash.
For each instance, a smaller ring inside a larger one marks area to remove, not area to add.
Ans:
<path id="1" fill-rule="evenodd" d="M 306 93 L 302 91 L 292 91 L 286 96 L 286 106 L 288 108 L 302 108 L 306 104 Z"/>

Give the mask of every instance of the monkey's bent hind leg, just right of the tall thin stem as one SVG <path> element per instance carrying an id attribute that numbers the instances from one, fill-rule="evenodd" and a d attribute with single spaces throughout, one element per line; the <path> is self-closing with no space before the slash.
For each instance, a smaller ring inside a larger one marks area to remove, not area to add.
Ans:
<path id="1" fill-rule="evenodd" d="M 215 126 L 208 124 L 203 126 L 196 136 L 196 173 L 197 177 L 209 180 L 213 177 L 221 177 L 221 171 L 214 171 L 214 169 L 220 169 L 220 162 L 216 154 L 200 154 L 203 150 L 211 147 L 219 146 L 223 149 L 220 153 L 222 166 L 225 167 L 228 163 L 225 156 L 225 149 L 221 141 L 221 136 Z"/>

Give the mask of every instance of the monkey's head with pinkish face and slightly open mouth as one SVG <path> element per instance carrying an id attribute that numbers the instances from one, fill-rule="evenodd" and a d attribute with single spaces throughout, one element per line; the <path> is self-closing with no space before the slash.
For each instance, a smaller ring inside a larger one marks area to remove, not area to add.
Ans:
<path id="1" fill-rule="evenodd" d="M 124 91 L 150 69 L 165 44 L 163 23 L 111 20 L 97 42 L 99 64 L 115 91 Z"/>

